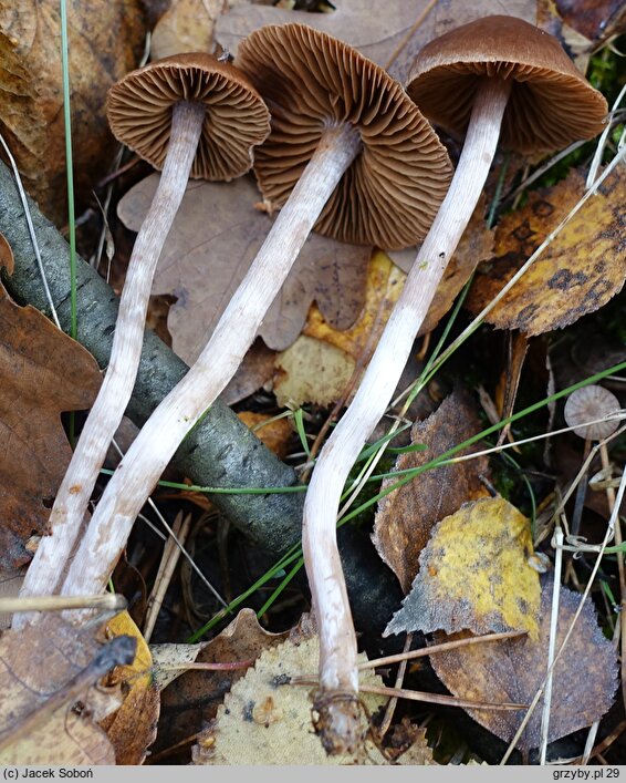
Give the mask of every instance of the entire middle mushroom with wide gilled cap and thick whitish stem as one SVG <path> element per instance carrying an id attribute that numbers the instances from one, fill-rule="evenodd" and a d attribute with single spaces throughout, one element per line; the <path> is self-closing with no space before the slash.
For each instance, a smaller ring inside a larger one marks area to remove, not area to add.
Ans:
<path id="1" fill-rule="evenodd" d="M 401 86 L 341 41 L 302 24 L 267 27 L 242 42 L 237 63 L 270 106 L 272 133 L 257 154 L 257 174 L 265 197 L 284 206 L 201 354 L 122 460 L 65 595 L 104 587 L 160 473 L 234 373 L 313 226 L 351 241 L 413 244 L 451 177 L 445 148 Z M 352 660 L 356 645 L 347 641 Z M 356 680 L 346 689 L 353 717 Z M 345 704 L 320 702 L 324 720 L 335 707 L 343 720 Z"/>

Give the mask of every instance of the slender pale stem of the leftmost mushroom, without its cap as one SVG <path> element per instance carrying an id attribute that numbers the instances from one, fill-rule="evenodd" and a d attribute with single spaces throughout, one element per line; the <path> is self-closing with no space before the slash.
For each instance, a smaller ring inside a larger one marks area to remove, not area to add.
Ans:
<path id="1" fill-rule="evenodd" d="M 181 101 L 174 107 L 163 174 L 128 262 L 108 368 L 56 494 L 52 535 L 40 542 L 22 596 L 51 595 L 62 584 L 100 468 L 133 392 L 155 268 L 185 195 L 205 114 L 201 103 Z M 13 628 L 32 620 L 32 615 L 18 615 Z"/>

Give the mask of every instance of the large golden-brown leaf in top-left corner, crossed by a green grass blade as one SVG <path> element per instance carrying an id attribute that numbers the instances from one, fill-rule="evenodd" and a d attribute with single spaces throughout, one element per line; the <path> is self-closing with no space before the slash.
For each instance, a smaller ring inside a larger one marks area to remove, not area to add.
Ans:
<path id="1" fill-rule="evenodd" d="M 111 161 L 108 87 L 138 61 L 136 0 L 67 3 L 74 185 L 88 195 Z M 0 133 L 24 186 L 58 225 L 67 220 L 61 21 L 56 0 L 0 0 Z"/>

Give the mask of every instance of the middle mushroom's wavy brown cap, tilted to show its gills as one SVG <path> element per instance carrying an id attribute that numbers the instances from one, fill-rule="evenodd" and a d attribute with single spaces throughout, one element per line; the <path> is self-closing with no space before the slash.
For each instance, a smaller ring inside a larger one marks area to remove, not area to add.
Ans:
<path id="1" fill-rule="evenodd" d="M 425 236 L 452 167 L 427 120 L 382 68 L 331 35 L 292 23 L 251 33 L 236 64 L 272 115 L 272 132 L 254 161 L 265 199 L 282 206 L 324 130 L 348 123 L 362 150 L 315 230 L 389 249 Z"/>

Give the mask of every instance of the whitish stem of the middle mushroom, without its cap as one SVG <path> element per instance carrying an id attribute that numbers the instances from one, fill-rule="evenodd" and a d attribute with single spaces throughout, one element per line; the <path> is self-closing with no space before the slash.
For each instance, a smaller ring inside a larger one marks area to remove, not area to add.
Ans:
<path id="1" fill-rule="evenodd" d="M 320 213 L 359 150 L 359 134 L 351 125 L 325 131 L 202 352 L 154 411 L 115 471 L 62 595 L 104 588 L 142 506 L 185 435 L 234 374 Z"/>

